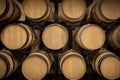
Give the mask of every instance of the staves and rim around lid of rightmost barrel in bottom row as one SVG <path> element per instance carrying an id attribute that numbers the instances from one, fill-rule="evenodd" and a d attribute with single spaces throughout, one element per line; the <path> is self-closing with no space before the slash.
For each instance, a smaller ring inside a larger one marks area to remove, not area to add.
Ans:
<path id="1" fill-rule="evenodd" d="M 107 76 L 103 75 L 103 73 L 101 71 L 102 61 L 108 57 L 114 57 L 120 61 L 120 58 L 118 56 L 116 56 L 114 53 L 107 51 L 107 50 L 103 50 L 103 51 L 100 51 L 98 54 L 96 54 L 95 57 L 92 59 L 92 63 L 91 63 L 92 68 L 96 73 L 105 77 L 106 79 L 110 79 L 110 80 L 117 79 L 120 77 L 119 75 L 117 77 L 107 77 Z"/>

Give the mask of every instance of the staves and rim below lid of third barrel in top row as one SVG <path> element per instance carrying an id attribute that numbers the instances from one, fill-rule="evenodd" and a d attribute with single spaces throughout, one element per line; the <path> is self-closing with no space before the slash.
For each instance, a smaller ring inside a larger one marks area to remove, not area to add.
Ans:
<path id="1" fill-rule="evenodd" d="M 84 1 L 84 3 L 85 3 L 85 1 Z M 86 4 L 85 4 L 85 6 L 86 6 Z M 60 3 L 59 4 L 59 11 L 58 11 L 59 12 L 59 17 L 60 17 L 61 21 L 69 21 L 69 22 L 78 22 L 78 21 L 81 21 L 85 17 L 86 10 L 87 10 L 87 8 L 86 8 L 84 10 L 84 12 L 83 12 L 83 15 L 81 15 L 78 18 L 73 19 L 73 18 L 70 18 L 69 16 L 67 16 L 64 13 L 64 11 L 62 10 L 62 8 L 63 8 L 62 3 Z"/>

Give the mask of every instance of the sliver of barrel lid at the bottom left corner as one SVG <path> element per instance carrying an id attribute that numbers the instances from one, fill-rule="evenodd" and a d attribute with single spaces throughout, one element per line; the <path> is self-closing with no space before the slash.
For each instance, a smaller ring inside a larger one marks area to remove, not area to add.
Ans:
<path id="1" fill-rule="evenodd" d="M 7 71 L 6 62 L 0 57 L 0 79 L 2 79 Z"/>

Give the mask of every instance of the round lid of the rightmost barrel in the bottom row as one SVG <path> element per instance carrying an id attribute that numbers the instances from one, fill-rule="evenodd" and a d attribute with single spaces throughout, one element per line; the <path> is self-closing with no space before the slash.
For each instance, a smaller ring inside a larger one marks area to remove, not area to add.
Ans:
<path id="1" fill-rule="evenodd" d="M 101 62 L 101 73 L 107 79 L 117 79 L 120 77 L 120 59 L 114 56 L 106 57 Z"/>

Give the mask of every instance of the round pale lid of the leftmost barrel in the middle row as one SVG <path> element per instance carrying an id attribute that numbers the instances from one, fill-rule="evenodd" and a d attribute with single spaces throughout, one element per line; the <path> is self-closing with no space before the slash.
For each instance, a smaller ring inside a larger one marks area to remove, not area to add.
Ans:
<path id="1" fill-rule="evenodd" d="M 1 32 L 1 41 L 9 49 L 21 48 L 26 43 L 27 37 L 26 29 L 17 24 L 10 24 Z"/>

